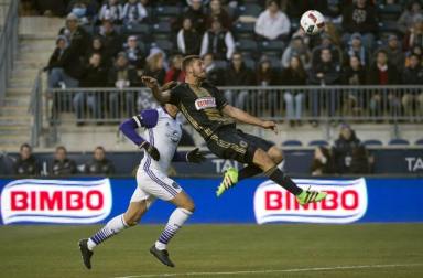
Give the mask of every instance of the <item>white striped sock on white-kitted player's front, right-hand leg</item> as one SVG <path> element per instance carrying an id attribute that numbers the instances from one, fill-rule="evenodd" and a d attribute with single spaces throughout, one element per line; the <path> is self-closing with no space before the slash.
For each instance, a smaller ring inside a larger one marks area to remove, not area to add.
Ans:
<path id="1" fill-rule="evenodd" d="M 185 221 L 189 218 L 193 213 L 185 209 L 177 207 L 169 217 L 169 222 L 164 227 L 159 239 L 155 242 L 155 248 L 159 250 L 166 249 L 167 243 L 176 234 L 176 232 L 184 225 Z"/>

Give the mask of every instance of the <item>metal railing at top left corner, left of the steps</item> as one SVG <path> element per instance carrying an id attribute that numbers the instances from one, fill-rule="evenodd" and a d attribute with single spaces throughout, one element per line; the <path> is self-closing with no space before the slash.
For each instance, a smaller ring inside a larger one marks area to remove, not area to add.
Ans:
<path id="1" fill-rule="evenodd" d="M 0 33 L 0 105 L 3 104 L 13 60 L 18 47 L 18 6 L 19 1 L 6 1 L 9 6 L 4 25 Z"/>

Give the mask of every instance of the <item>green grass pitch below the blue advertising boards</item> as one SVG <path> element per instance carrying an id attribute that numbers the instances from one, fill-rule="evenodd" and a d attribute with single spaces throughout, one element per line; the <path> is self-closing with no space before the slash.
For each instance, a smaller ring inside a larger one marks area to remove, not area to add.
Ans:
<path id="1" fill-rule="evenodd" d="M 162 226 L 139 225 L 96 248 L 87 270 L 77 242 L 99 227 L 2 226 L 0 277 L 142 277 L 391 264 L 421 265 L 207 277 L 423 277 L 423 224 L 187 225 L 170 244 L 176 268 L 161 265 L 148 252 Z"/>

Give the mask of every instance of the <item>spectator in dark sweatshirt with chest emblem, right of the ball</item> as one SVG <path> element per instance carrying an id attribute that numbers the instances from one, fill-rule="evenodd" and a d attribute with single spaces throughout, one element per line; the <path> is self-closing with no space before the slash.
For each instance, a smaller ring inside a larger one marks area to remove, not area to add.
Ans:
<path id="1" fill-rule="evenodd" d="M 367 0 L 357 0 L 344 9 L 343 13 L 343 41 L 348 43 L 352 33 L 360 33 L 368 51 L 375 43 L 375 33 L 378 31 L 377 12 Z"/>

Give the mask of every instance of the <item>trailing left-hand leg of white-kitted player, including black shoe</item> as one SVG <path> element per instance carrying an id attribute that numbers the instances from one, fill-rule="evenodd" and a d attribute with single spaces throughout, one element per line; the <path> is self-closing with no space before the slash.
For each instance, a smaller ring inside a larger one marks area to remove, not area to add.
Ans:
<path id="1" fill-rule="evenodd" d="M 115 216 L 90 238 L 80 239 L 78 245 L 86 268 L 91 268 L 94 248 L 123 229 L 137 225 L 150 204 L 150 200 L 131 202 L 126 213 Z"/>

